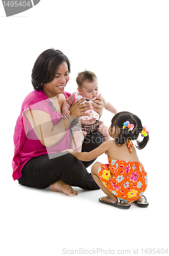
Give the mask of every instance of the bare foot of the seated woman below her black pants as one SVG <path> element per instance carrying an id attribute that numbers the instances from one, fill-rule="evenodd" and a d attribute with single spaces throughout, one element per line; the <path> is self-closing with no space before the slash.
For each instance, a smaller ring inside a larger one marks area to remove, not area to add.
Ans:
<path id="1" fill-rule="evenodd" d="M 49 186 L 51 191 L 55 192 L 63 192 L 69 197 L 74 197 L 78 195 L 78 192 L 74 190 L 69 184 L 63 182 L 62 180 L 58 180 Z"/>

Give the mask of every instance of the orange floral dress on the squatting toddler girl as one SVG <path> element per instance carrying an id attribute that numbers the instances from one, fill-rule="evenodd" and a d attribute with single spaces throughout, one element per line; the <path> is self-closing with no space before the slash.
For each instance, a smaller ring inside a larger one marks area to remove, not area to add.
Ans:
<path id="1" fill-rule="evenodd" d="M 132 142 L 127 141 L 132 153 Z M 124 203 L 131 203 L 141 197 L 148 184 L 147 173 L 140 162 L 113 160 L 108 157 L 108 164 L 101 164 L 98 176 L 103 185 Z"/>

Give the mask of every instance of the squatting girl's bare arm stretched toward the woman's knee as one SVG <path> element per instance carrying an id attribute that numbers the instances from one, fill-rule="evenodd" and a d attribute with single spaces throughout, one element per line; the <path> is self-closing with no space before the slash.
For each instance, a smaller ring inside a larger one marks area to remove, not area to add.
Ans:
<path id="1" fill-rule="evenodd" d="M 69 151 L 71 155 L 75 156 L 75 158 L 77 158 L 78 160 L 89 162 L 97 158 L 98 156 L 102 155 L 103 153 L 107 152 L 111 145 L 112 145 L 112 142 L 110 140 L 107 140 L 103 142 L 100 146 L 95 148 L 95 150 L 92 150 L 91 152 L 76 153 L 76 152 L 72 152 L 73 150 L 66 150 L 66 151 Z"/>

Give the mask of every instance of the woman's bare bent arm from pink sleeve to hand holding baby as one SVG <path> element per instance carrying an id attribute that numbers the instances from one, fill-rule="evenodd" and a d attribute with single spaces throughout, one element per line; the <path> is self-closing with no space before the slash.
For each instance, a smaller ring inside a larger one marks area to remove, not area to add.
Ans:
<path id="1" fill-rule="evenodd" d="M 46 147 L 51 147 L 64 137 L 72 120 L 82 115 L 88 115 L 88 113 L 83 113 L 83 108 L 88 106 L 86 110 L 90 110 L 90 103 L 80 104 L 82 101 L 83 99 L 78 100 L 70 107 L 69 111 L 71 117 L 68 120 L 62 119 L 54 126 L 52 124 L 50 115 L 44 111 L 26 110 L 24 115 L 27 119 L 29 119 L 40 142 Z"/>

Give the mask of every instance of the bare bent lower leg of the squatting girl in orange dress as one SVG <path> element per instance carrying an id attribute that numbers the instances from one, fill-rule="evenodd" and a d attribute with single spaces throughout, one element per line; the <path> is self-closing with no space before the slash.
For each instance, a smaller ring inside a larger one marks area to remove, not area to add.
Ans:
<path id="1" fill-rule="evenodd" d="M 98 176 L 98 168 L 102 163 L 100 162 L 96 162 L 94 163 L 94 165 L 92 166 L 92 170 L 91 170 L 91 174 L 93 179 L 95 180 L 95 182 L 97 183 L 97 185 L 101 188 L 101 190 L 115 203 L 118 203 L 118 199 L 117 197 L 115 197 L 113 194 L 111 194 L 111 192 L 103 185 L 103 183 L 101 182 L 99 176 Z M 104 201 L 111 203 L 110 200 L 108 200 L 107 197 L 104 197 Z"/>

